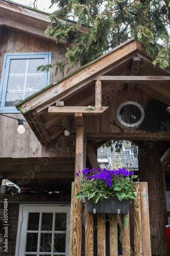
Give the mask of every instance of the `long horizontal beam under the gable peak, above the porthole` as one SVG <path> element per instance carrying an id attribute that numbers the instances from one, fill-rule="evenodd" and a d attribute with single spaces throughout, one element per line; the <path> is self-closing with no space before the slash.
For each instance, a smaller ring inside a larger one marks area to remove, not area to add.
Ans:
<path id="1" fill-rule="evenodd" d="M 167 82 L 170 76 L 99 76 L 95 80 L 122 83 Z"/>

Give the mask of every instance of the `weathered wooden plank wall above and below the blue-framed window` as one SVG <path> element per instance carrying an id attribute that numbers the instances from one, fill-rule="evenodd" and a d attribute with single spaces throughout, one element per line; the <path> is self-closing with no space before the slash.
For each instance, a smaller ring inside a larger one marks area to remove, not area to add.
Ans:
<path id="1" fill-rule="evenodd" d="M 63 45 L 56 45 L 53 41 L 36 38 L 6 27 L 0 28 L 0 76 L 2 75 L 4 53 L 27 52 L 53 52 L 52 63 L 65 60 L 65 48 Z M 75 67 L 75 69 L 77 68 Z M 64 75 L 66 75 L 66 68 Z M 51 82 L 61 77 L 62 74 L 56 76 L 55 70 L 52 70 Z M 21 114 L 8 115 L 23 119 Z M 55 141 L 48 145 L 41 145 L 27 123 L 25 123 L 26 132 L 23 135 L 17 133 L 17 126 L 17 120 L 0 116 L 0 157 L 27 158 L 59 156 L 59 150 L 56 150 Z"/>

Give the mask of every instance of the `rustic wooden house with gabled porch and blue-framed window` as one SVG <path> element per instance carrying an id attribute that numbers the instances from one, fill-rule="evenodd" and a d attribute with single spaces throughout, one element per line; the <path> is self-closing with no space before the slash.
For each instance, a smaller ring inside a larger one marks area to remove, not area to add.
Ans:
<path id="1" fill-rule="evenodd" d="M 139 173 L 144 174 L 145 177 L 153 175 L 149 178 L 151 183 L 147 185 L 148 180 L 143 179 L 143 182 L 136 186 L 137 200 L 132 202 L 135 256 L 152 255 L 153 239 L 160 241 L 161 237 L 162 243 L 166 243 L 166 188 L 170 191 L 168 188 L 170 187 L 170 114 L 167 111 L 170 106 L 170 69 L 154 68 L 152 59 L 145 53 L 143 46 L 132 38 L 63 78 L 61 76 L 56 78 L 54 71 L 46 74 L 45 79 L 50 85 L 46 84 L 47 87 L 39 91 L 32 89 L 35 94 L 29 94 L 29 90 L 25 90 L 25 95 L 28 97 L 23 100 L 18 99 L 15 105 L 16 99 L 12 101 L 10 97 L 9 100 L 6 97 L 12 93 L 10 87 L 7 90 L 8 78 L 11 74 L 13 79 L 16 78 L 15 73 L 10 73 L 9 60 L 16 59 L 16 55 L 14 58 L 13 54 L 25 56 L 28 65 L 30 59 L 34 58 L 48 62 L 52 60 L 51 63 L 54 63 L 65 58 L 63 46 L 65 41 L 56 45 L 54 38 L 45 37 L 43 31 L 49 24 L 47 14 L 3 0 L 0 0 L 0 9 L 2 10 L 0 50 L 7 61 L 4 62 L 6 63 L 4 67 L 3 59 L 0 60 L 1 114 L 28 121 L 24 122 L 25 133 L 18 134 L 15 131 L 18 126 L 17 120 L 0 115 L 1 178 L 14 182 L 23 192 L 27 191 L 24 196 L 21 194 L 4 196 L 12 202 L 11 206 L 9 203 L 9 215 L 12 216 L 14 205 L 18 212 L 15 217 L 18 218 L 18 224 L 15 225 L 16 248 L 11 251 L 15 251 L 15 256 L 45 254 L 82 256 L 85 250 L 86 256 L 93 256 L 93 219 L 96 215 L 84 212 L 85 203 L 75 198 L 77 188 L 72 182 L 78 183 L 75 173 L 84 167 L 99 167 L 96 154 L 100 146 L 110 140 L 130 140 L 139 145 L 140 160 L 144 161 L 143 159 L 148 156 L 152 159 L 152 163 L 145 164 L 143 170 L 139 169 Z M 48 57 L 46 57 L 47 53 Z M 34 74 L 37 83 L 43 80 L 42 77 L 40 78 L 41 75 Z M 18 82 L 13 84 L 18 86 Z M 29 88 L 31 84 L 30 82 Z M 17 86 L 15 91 L 19 91 Z M 12 108 L 8 105 L 11 102 Z M 68 137 L 64 135 L 63 128 L 69 131 Z M 153 148 L 156 148 L 156 153 Z M 157 166 L 159 162 L 161 170 L 156 173 L 154 169 L 155 175 L 153 170 L 151 171 L 154 161 L 157 161 Z M 144 167 L 148 169 L 144 170 Z M 152 186 L 153 183 L 155 186 Z M 29 192 L 31 193 L 28 194 Z M 159 200 L 155 202 L 153 195 L 157 195 Z M 1 198 L 2 204 L 4 198 Z M 71 202 L 68 203 L 67 209 L 62 208 L 67 202 Z M 48 241 L 48 245 L 52 244 L 52 246 L 47 250 L 43 248 L 41 242 L 41 237 L 44 236 L 43 239 L 46 239 L 45 231 L 38 228 L 30 230 L 25 224 L 29 223 L 29 212 L 33 211 L 33 215 L 38 212 L 39 216 L 43 216 L 43 210 L 51 214 L 51 207 L 54 208 L 54 214 L 56 211 L 60 214 L 62 209 L 68 216 L 70 212 L 71 216 L 71 222 L 67 221 L 67 229 L 61 231 L 61 234 L 66 236 L 66 250 L 61 248 L 62 252 L 57 251 L 55 243 L 52 242 L 52 238 L 55 239 L 60 233 L 58 230 L 49 231 L 51 241 Z M 158 218 L 158 214 L 163 216 L 163 219 Z M 19 218 L 22 217 L 23 221 L 19 222 Z M 114 214 L 108 217 L 110 255 L 118 254 L 117 222 L 122 226 L 123 255 L 132 255 L 129 215 L 122 215 L 121 221 L 119 216 Z M 155 220 L 158 223 L 153 227 Z M 82 238 L 82 222 L 86 227 L 85 245 Z M 67 236 L 69 228 L 70 238 Z M 154 228 L 158 237 L 152 233 Z M 160 230 L 161 236 L 159 236 Z M 33 240 L 30 234 L 33 233 L 38 242 L 36 246 L 31 247 Z M 105 237 L 105 215 L 98 214 L 98 256 L 106 254 Z M 0 255 L 4 254 L 0 251 Z"/>

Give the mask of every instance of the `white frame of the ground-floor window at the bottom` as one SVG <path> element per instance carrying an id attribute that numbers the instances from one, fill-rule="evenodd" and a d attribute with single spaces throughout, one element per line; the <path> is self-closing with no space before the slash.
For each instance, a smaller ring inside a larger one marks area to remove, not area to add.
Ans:
<path id="1" fill-rule="evenodd" d="M 60 206 L 51 204 L 20 204 L 19 216 L 18 216 L 18 228 L 15 247 L 15 256 L 25 256 L 26 243 L 27 243 L 27 227 L 29 212 L 56 212 L 66 213 L 66 241 L 65 241 L 65 253 L 57 252 L 40 252 L 40 254 L 51 255 L 69 255 L 69 239 L 70 239 L 70 205 Z M 35 255 L 35 252 L 29 252 L 29 254 Z M 36 254 L 39 255 L 39 254 Z"/>

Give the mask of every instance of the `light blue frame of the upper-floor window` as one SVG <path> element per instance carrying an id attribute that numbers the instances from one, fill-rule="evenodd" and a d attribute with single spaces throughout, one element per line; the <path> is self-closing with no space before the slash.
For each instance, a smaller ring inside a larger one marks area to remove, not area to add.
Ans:
<path id="1" fill-rule="evenodd" d="M 12 59 L 44 59 L 44 65 L 52 63 L 52 52 L 40 52 L 40 53 L 5 53 L 4 54 L 4 63 L 0 84 L 0 113 L 20 113 L 15 106 L 5 106 L 8 78 L 9 78 L 9 69 L 10 61 Z M 46 73 L 43 72 L 43 84 L 42 88 L 50 84 L 51 69 Z"/>

